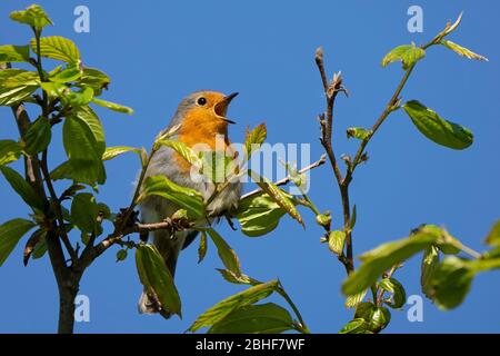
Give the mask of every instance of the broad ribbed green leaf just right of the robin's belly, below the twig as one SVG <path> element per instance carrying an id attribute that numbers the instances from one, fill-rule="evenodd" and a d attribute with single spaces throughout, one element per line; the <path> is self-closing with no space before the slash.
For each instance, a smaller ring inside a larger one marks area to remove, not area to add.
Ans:
<path id="1" fill-rule="evenodd" d="M 276 229 L 284 214 L 284 209 L 269 195 L 259 194 L 240 200 L 236 217 L 244 235 L 258 237 Z"/>

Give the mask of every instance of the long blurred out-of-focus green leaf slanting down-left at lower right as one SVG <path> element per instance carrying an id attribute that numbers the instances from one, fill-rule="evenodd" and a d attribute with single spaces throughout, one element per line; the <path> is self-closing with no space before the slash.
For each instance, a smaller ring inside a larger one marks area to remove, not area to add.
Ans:
<path id="1" fill-rule="evenodd" d="M 420 231 L 408 238 L 383 244 L 360 256 L 363 264 L 342 284 L 342 293 L 353 295 L 369 288 L 393 265 L 429 248 L 439 236 L 430 231 Z"/>

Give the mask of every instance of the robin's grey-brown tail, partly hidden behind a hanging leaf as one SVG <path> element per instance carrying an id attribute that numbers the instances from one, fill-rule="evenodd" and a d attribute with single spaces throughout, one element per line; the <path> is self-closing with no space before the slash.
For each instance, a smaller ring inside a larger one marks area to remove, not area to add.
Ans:
<path id="1" fill-rule="evenodd" d="M 163 257 L 166 267 L 173 277 L 176 274 L 177 257 L 183 245 L 184 235 L 176 234 L 176 237 L 172 238 L 167 231 L 156 231 L 153 233 L 153 245 L 157 246 L 158 251 Z M 172 316 L 172 313 L 161 305 L 157 295 L 147 291 L 146 288 L 139 298 L 138 309 L 140 314 L 159 313 L 166 319 Z"/>

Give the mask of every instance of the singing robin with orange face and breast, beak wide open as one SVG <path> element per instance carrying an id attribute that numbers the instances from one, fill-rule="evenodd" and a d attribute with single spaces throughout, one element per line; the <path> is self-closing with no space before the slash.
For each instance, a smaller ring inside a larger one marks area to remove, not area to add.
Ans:
<path id="1" fill-rule="evenodd" d="M 224 155 L 234 152 L 228 138 L 228 126 L 234 122 L 226 118 L 226 113 L 229 103 L 237 95 L 234 92 L 224 96 L 216 91 L 197 91 L 189 95 L 180 102 L 169 126 L 160 135 L 180 125 L 174 139 L 187 146 L 193 148 L 201 144 L 208 146 L 211 150 L 223 149 L 226 151 Z M 220 141 L 222 141 L 222 145 Z M 213 192 L 213 184 L 210 185 L 207 181 L 193 179 L 191 165 L 169 147 L 161 147 L 156 152 L 146 172 L 146 177 L 160 175 L 166 176 L 180 186 L 198 190 L 206 200 Z M 236 209 L 240 195 L 241 184 L 231 182 L 207 207 L 208 220 L 211 221 Z M 143 222 L 162 221 L 167 217 L 172 216 L 178 209 L 179 206 L 176 204 L 157 196 L 147 198 L 140 206 Z M 201 221 L 201 224 L 207 224 L 207 219 Z M 166 268 L 170 270 L 173 277 L 180 250 L 193 241 L 198 231 L 188 229 L 174 233 L 171 236 L 167 230 L 158 230 L 151 235 L 153 244 L 164 259 Z M 160 313 L 164 318 L 171 316 L 170 312 L 159 304 L 158 298 L 152 294 L 146 293 L 146 290 L 139 299 L 139 313 Z"/>

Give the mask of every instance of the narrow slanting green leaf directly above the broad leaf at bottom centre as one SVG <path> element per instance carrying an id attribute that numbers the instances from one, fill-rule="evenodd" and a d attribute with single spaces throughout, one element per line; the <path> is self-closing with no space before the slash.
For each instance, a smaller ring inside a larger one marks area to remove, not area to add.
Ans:
<path id="1" fill-rule="evenodd" d="M 222 320 L 231 312 L 269 297 L 273 291 L 276 291 L 278 284 L 278 280 L 260 284 L 219 301 L 200 315 L 188 330 L 194 333 L 202 327 L 212 326 Z"/>

